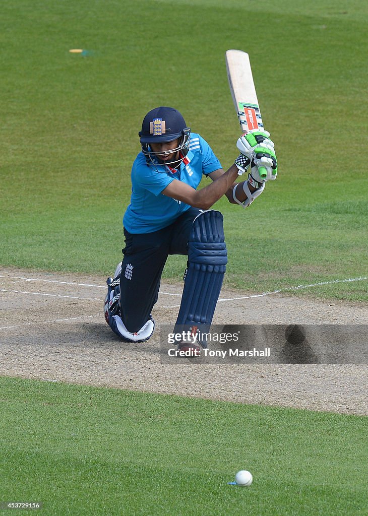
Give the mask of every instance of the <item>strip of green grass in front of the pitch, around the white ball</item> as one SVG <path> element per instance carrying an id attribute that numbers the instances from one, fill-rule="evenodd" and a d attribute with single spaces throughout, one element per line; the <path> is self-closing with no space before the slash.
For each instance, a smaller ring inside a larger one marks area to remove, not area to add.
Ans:
<path id="1" fill-rule="evenodd" d="M 47 516 L 366 508 L 363 417 L 11 378 L 0 388 L 0 501 L 41 502 Z M 240 469 L 252 486 L 227 485 Z"/>

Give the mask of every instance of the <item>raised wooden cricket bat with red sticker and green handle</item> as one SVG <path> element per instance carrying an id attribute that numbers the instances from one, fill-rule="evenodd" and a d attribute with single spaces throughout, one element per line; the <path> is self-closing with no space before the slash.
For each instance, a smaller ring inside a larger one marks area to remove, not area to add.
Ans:
<path id="1" fill-rule="evenodd" d="M 243 133 L 251 129 L 262 130 L 262 116 L 248 54 L 242 50 L 228 50 L 225 60 L 230 91 Z M 259 173 L 261 178 L 265 178 L 265 167 L 260 167 Z"/>

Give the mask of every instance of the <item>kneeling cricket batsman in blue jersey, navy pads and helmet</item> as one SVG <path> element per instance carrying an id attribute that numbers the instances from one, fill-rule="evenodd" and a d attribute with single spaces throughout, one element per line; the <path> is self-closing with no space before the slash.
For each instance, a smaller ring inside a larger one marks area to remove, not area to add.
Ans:
<path id="1" fill-rule="evenodd" d="M 225 195 L 249 206 L 276 179 L 277 158 L 269 133 L 253 130 L 237 140 L 240 151 L 225 171 L 209 144 L 177 109 L 149 111 L 138 133 L 141 152 L 132 167 L 131 202 L 123 217 L 125 247 L 114 278 L 107 279 L 105 319 L 125 342 L 147 341 L 169 254 L 188 256 L 176 327 L 209 331 L 227 264 L 223 217 L 211 206 Z M 259 174 L 262 168 L 263 176 Z M 264 170 L 267 174 L 264 176 Z M 247 179 L 235 183 L 239 173 Z M 197 190 L 202 176 L 211 183 Z M 207 343 L 183 342 L 197 356 Z"/>

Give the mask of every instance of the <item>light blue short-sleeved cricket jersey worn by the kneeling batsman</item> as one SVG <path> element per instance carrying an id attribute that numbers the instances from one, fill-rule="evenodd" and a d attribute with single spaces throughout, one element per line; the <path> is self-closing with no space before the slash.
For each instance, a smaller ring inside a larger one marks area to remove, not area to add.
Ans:
<path id="1" fill-rule="evenodd" d="M 178 171 L 171 172 L 165 165 L 148 165 L 140 152 L 132 168 L 131 203 L 123 217 L 129 233 L 152 233 L 166 228 L 189 205 L 161 193 L 172 181 L 182 181 L 197 188 L 202 174 L 218 170 L 221 164 L 209 144 L 199 135 L 190 134 L 189 152 Z"/>

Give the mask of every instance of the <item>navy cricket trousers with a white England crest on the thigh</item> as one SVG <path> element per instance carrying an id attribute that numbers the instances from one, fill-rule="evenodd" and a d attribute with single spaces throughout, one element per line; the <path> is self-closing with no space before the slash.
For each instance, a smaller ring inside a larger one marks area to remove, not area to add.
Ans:
<path id="1" fill-rule="evenodd" d="M 169 254 L 188 254 L 193 220 L 202 210 L 190 207 L 172 224 L 153 233 L 129 233 L 120 278 L 120 313 L 126 329 L 139 331 L 157 302 L 164 266 Z"/>

